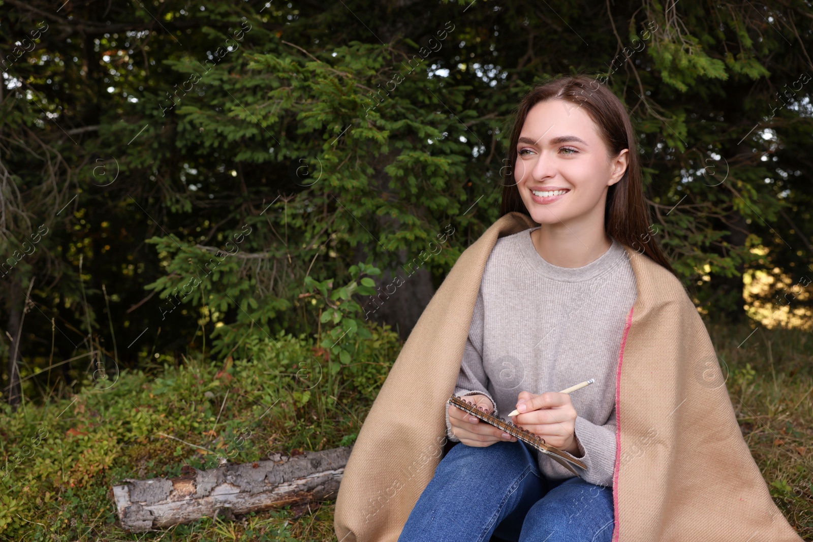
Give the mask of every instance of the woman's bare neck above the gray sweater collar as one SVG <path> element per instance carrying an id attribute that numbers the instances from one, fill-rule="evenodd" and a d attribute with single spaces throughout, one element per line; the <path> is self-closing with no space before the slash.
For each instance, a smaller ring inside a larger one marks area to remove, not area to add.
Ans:
<path id="1" fill-rule="evenodd" d="M 584 267 L 612 245 L 603 227 L 574 232 L 563 223 L 542 224 L 531 232 L 531 240 L 537 253 L 558 267 Z"/>

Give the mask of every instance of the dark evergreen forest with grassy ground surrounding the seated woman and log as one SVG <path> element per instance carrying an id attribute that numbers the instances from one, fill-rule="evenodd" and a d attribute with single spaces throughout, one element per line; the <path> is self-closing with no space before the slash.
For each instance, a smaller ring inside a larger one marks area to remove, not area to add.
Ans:
<path id="1" fill-rule="evenodd" d="M 177 440 L 247 418 L 246 460 L 352 443 L 498 219 L 516 104 L 585 73 L 631 111 L 646 242 L 813 536 L 811 50 L 802 0 L 4 0 L 0 533 L 93 540 L 115 479 L 206 466 Z M 307 517 L 274 525 L 328 536 Z"/>

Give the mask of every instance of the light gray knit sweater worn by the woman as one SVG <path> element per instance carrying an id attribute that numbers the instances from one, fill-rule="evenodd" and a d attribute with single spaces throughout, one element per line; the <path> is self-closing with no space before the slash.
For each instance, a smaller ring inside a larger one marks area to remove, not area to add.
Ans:
<path id="1" fill-rule="evenodd" d="M 537 227 L 538 228 L 538 227 Z M 611 486 L 615 466 L 615 371 L 621 338 L 637 295 L 627 254 L 615 239 L 583 267 L 558 267 L 537 253 L 529 228 L 497 240 L 485 265 L 480 293 L 454 393 L 481 393 L 506 418 L 521 391 L 571 393 L 576 444 L 589 483 Z M 443 406 L 447 410 L 448 405 Z M 507 418 L 506 418 L 507 419 Z M 451 432 L 446 412 L 446 431 Z M 573 474 L 536 452 L 548 479 Z"/>

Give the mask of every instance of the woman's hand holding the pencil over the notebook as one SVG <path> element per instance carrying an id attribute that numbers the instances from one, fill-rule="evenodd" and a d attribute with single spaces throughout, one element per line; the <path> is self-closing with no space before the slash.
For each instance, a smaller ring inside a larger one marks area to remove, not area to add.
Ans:
<path id="1" fill-rule="evenodd" d="M 579 447 L 573 436 L 576 429 L 576 409 L 567 393 L 545 392 L 534 395 L 520 392 L 517 397 L 520 414 L 512 417 L 514 425 L 545 439 L 546 444 L 576 455 Z"/>

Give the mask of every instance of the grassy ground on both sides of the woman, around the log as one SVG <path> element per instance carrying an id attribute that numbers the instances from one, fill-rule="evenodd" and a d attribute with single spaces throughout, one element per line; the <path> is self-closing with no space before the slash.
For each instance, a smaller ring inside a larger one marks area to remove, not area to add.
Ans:
<path id="1" fill-rule="evenodd" d="M 772 496 L 802 538 L 813 541 L 813 337 L 763 328 L 749 336 L 745 325 L 709 331 Z M 231 365 L 162 360 L 146 371 L 124 371 L 108 389 L 87 382 L 72 397 L 26 403 L 15 414 L 4 407 L 0 467 L 9 476 L 0 492 L 0 540 L 335 540 L 332 502 L 233 522 L 204 518 L 146 535 L 115 525 L 109 492 L 124 478 L 207 468 L 216 464 L 215 453 L 250 462 L 353 441 L 398 354 L 394 334 L 380 330 L 359 343 L 349 365 L 324 359 L 305 338 L 278 340 L 280 348 L 250 345 L 250 359 Z M 237 447 L 246 431 L 250 437 Z"/>

